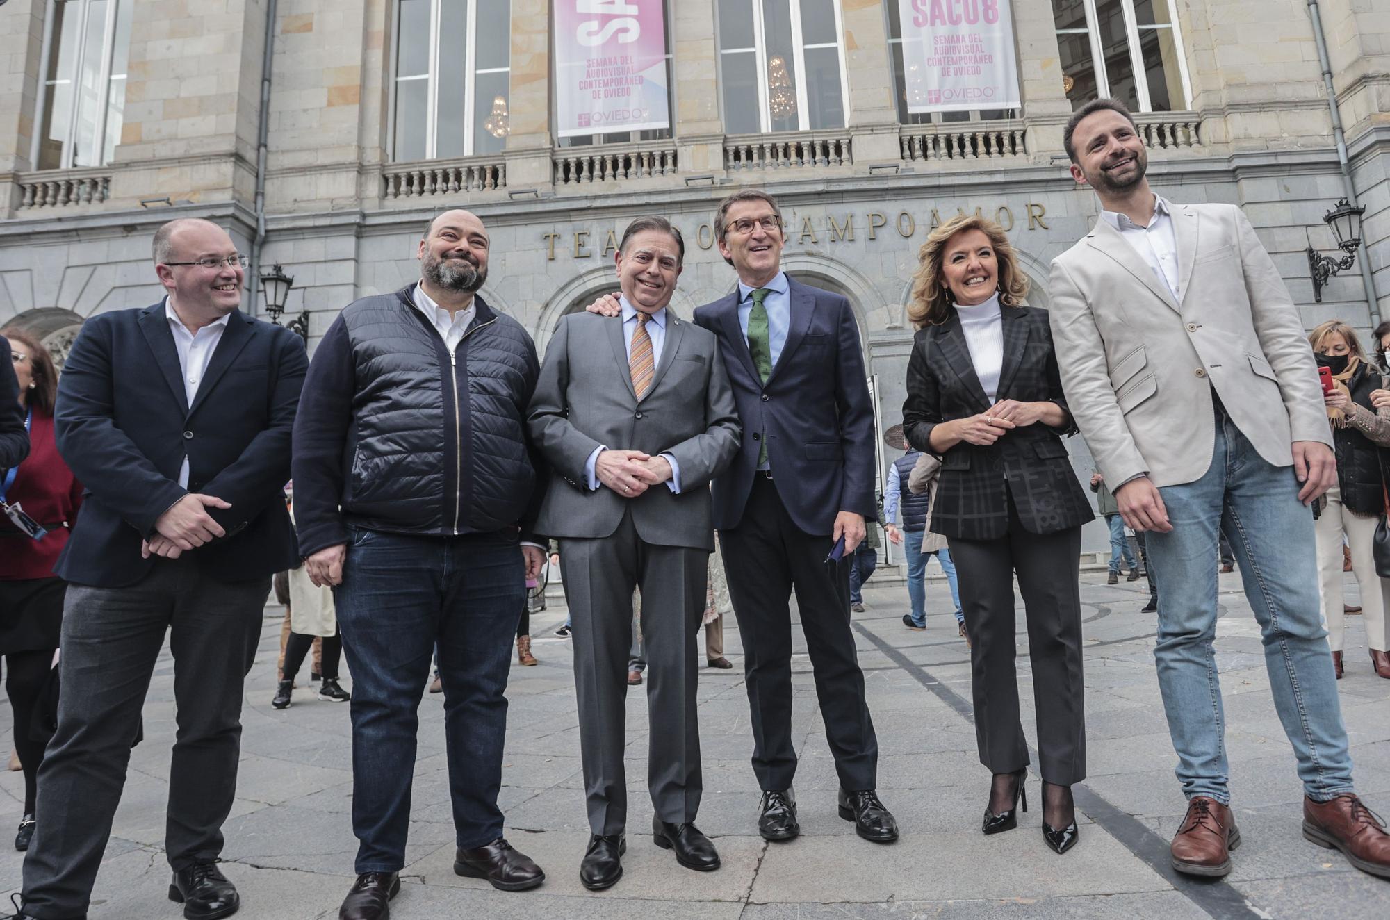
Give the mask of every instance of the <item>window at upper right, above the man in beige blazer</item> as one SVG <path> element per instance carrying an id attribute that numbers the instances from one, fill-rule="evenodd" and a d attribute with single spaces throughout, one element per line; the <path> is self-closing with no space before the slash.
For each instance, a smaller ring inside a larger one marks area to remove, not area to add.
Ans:
<path id="1" fill-rule="evenodd" d="M 1052 0 L 1072 108 L 1113 96 L 1133 111 L 1193 104 L 1175 0 Z"/>

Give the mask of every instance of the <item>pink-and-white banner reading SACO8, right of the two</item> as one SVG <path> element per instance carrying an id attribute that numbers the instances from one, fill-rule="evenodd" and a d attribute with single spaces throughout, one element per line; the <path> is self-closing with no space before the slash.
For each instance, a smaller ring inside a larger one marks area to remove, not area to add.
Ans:
<path id="1" fill-rule="evenodd" d="M 898 0 L 908 111 L 1017 108 L 1009 0 Z"/>

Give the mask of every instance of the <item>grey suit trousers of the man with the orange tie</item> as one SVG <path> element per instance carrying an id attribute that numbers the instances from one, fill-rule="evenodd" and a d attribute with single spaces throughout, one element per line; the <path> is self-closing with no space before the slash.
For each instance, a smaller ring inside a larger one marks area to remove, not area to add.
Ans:
<path id="1" fill-rule="evenodd" d="M 602 539 L 562 539 L 560 570 L 574 625 L 574 689 L 589 830 L 627 825 L 627 667 L 632 588 L 642 589 L 649 718 L 646 785 L 656 816 L 688 823 L 699 810 L 699 688 L 696 636 L 705 614 L 709 553 L 644 543 L 624 514 Z"/>

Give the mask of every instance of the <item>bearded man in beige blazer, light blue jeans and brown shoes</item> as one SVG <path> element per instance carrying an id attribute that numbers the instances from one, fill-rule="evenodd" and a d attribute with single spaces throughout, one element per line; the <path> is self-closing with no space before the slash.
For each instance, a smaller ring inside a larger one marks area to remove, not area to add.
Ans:
<path id="1" fill-rule="evenodd" d="M 1123 106 L 1077 110 L 1063 142 L 1104 210 L 1052 263 L 1052 340 L 1076 422 L 1125 523 L 1147 532 L 1158 581 L 1154 657 L 1188 799 L 1172 864 L 1225 876 L 1240 844 L 1212 653 L 1225 531 L 1304 782 L 1304 837 L 1390 877 L 1390 835 L 1352 788 L 1319 614 L 1307 506 L 1336 460 L 1298 311 L 1240 208 L 1154 195 Z"/>

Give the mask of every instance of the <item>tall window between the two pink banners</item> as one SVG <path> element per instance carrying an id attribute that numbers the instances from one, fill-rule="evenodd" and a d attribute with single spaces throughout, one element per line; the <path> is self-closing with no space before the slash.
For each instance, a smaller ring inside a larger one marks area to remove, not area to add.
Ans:
<path id="1" fill-rule="evenodd" d="M 845 126 L 838 0 L 719 0 L 724 131 Z"/>

